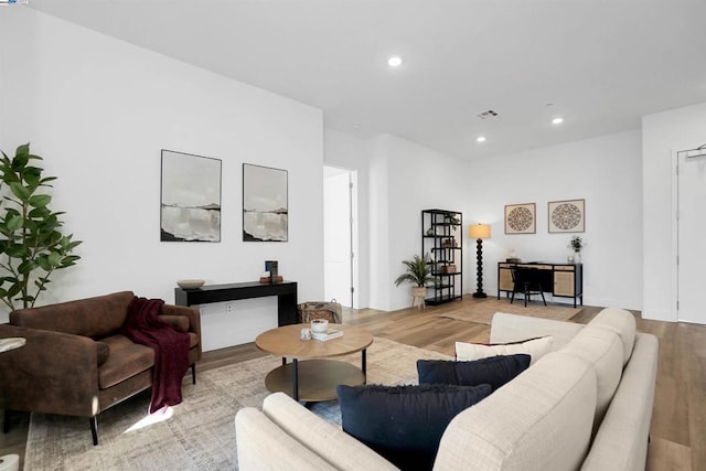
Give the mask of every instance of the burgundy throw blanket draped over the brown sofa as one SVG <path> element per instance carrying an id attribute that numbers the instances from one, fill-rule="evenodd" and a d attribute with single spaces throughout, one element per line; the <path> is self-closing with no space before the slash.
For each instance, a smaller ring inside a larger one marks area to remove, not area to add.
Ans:
<path id="1" fill-rule="evenodd" d="M 150 414 L 181 403 L 181 381 L 189 370 L 189 334 L 159 320 L 161 299 L 135 297 L 120 330 L 135 343 L 154 350 Z"/>

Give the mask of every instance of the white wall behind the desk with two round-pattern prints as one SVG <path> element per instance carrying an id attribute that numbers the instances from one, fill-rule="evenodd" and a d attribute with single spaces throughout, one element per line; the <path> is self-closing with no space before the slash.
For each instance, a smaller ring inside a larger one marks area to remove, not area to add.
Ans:
<path id="1" fill-rule="evenodd" d="M 639 131 L 486 159 L 468 170 L 469 224 L 490 223 L 483 286 L 498 292 L 498 261 L 566 261 L 575 234 L 549 234 L 547 203 L 586 200 L 584 303 L 641 309 L 642 184 Z M 504 234 L 504 205 L 536 203 L 536 234 Z M 474 250 L 469 256 L 475 260 Z M 469 277 L 470 278 L 470 277 Z M 474 279 L 471 279 L 474 283 Z M 558 302 L 568 302 L 557 298 Z"/>

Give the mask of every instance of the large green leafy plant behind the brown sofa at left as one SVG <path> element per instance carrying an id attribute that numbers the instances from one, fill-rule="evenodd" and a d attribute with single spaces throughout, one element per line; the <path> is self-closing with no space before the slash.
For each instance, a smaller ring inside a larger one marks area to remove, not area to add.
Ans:
<path id="1" fill-rule="evenodd" d="M 49 208 L 52 196 L 43 191 L 56 176 L 42 176 L 38 160 L 29 143 L 0 160 L 0 299 L 10 309 L 34 307 L 50 276 L 81 258 L 72 254 L 81 240 L 62 233 L 64 213 Z"/>

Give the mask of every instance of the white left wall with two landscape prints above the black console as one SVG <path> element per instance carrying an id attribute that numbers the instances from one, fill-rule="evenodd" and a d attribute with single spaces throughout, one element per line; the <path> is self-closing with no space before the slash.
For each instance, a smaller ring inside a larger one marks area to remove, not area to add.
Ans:
<path id="1" fill-rule="evenodd" d="M 266 259 L 299 282 L 300 301 L 321 299 L 319 109 L 31 9 L 2 11 L 0 44 L 0 148 L 30 141 L 44 157 L 58 176 L 52 208 L 84 240 L 41 303 L 124 289 L 173 302 L 178 279 L 257 280 Z M 223 160 L 221 243 L 159 242 L 163 148 Z M 288 171 L 288 243 L 242 242 L 244 162 Z M 204 347 L 252 340 L 276 324 L 274 306 L 204 314 Z"/>

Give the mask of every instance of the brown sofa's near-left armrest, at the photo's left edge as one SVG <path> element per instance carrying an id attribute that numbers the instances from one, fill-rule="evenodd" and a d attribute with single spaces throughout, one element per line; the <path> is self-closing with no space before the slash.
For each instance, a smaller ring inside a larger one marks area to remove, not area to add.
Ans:
<path id="1" fill-rule="evenodd" d="M 24 346 L 2 353 L 0 400 L 10 410 L 93 417 L 99 411 L 96 342 L 82 335 L 0 325 Z"/>

